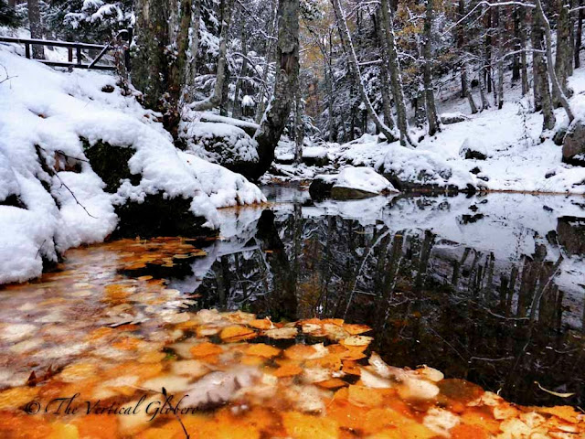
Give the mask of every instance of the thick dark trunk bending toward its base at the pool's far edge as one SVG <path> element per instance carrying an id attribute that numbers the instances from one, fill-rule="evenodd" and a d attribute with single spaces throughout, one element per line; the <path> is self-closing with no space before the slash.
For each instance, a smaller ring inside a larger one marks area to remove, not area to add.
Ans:
<path id="1" fill-rule="evenodd" d="M 259 164 L 251 173 L 261 177 L 274 160 L 274 149 L 281 138 L 294 101 L 299 80 L 299 0 L 279 0 L 277 72 L 274 92 L 254 138 L 258 142 Z"/>

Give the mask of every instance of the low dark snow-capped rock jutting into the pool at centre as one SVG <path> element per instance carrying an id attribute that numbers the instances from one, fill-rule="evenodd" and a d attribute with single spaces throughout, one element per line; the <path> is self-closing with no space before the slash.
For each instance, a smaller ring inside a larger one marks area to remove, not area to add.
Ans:
<path id="1" fill-rule="evenodd" d="M 315 199 L 353 199 L 375 197 L 398 190 L 387 178 L 370 167 L 346 166 L 339 174 L 316 176 L 309 192 Z"/>

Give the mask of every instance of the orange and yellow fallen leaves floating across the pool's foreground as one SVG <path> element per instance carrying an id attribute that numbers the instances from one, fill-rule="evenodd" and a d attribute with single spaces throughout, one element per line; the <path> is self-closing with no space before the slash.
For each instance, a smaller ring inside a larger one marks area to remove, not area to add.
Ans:
<path id="1" fill-rule="evenodd" d="M 585 415 L 572 407 L 522 407 L 429 366 L 388 365 L 365 325 L 192 311 L 192 295 L 148 273 L 204 254 L 179 238 L 114 241 L 0 290 L 2 437 L 585 437 Z M 143 410 L 24 410 L 78 393 L 91 407 Z M 144 412 L 169 397 L 185 410 Z"/>

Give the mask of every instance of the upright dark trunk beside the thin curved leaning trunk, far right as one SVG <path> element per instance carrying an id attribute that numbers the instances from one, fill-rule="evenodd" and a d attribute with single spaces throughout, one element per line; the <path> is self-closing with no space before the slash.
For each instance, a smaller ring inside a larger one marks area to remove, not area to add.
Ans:
<path id="1" fill-rule="evenodd" d="M 543 129 L 552 130 L 556 119 L 552 107 L 552 97 L 548 88 L 547 59 L 543 49 L 542 18 L 534 12 L 532 16 L 532 47 L 534 48 L 532 69 L 534 71 L 535 111 L 542 110 Z"/>

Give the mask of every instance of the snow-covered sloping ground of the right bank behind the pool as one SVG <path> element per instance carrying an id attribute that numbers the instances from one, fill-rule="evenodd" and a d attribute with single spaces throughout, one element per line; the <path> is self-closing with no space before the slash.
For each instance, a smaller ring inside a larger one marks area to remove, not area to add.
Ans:
<path id="1" fill-rule="evenodd" d="M 456 81 L 455 81 L 456 82 Z M 506 85 L 509 80 L 505 80 Z M 455 84 L 456 86 L 457 84 Z M 494 105 L 488 110 L 471 114 L 469 104 L 453 86 L 438 93 L 441 114 L 463 113 L 468 117 L 461 123 L 441 126 L 441 133 L 425 136 L 416 149 L 400 147 L 398 143 L 378 143 L 378 136 L 364 134 L 353 142 L 323 144 L 306 148 L 309 154 L 319 148 L 335 166 L 371 166 L 392 171 L 400 179 L 427 184 L 456 186 L 471 184 L 497 191 L 525 191 L 585 194 L 585 167 L 561 162 L 561 146 L 552 141 L 552 134 L 542 132 L 542 114 L 532 112 L 531 96 L 520 96 L 520 85 L 506 87 L 505 103 L 501 110 Z M 585 69 L 575 70 L 569 79 L 574 91 L 570 104 L 577 117 L 585 115 Z M 473 89 L 479 102 L 479 91 Z M 443 98 L 441 99 L 441 96 Z M 490 100 L 492 96 L 489 97 Z M 555 112 L 557 128 L 567 126 L 562 109 Z M 418 134 L 414 133 L 414 137 Z M 544 139 L 544 141 L 542 141 Z M 460 155 L 463 144 L 482 149 L 485 160 L 465 159 Z M 277 156 L 290 154 L 293 145 L 282 142 Z M 282 175 L 310 179 L 315 174 L 334 172 L 334 166 L 314 169 L 312 166 L 279 165 Z M 475 168 L 478 169 L 475 169 Z M 470 171 L 474 170 L 475 174 Z M 429 177 L 430 176 L 430 177 Z"/>

